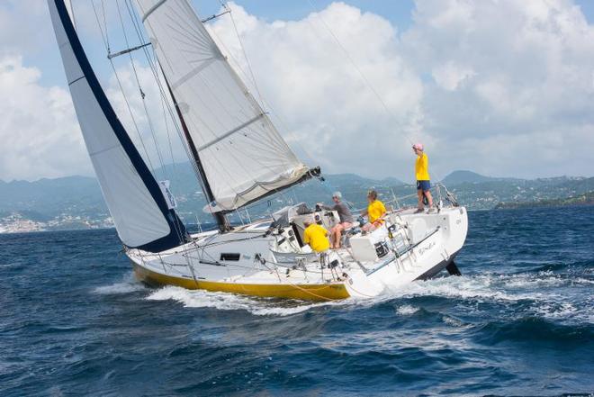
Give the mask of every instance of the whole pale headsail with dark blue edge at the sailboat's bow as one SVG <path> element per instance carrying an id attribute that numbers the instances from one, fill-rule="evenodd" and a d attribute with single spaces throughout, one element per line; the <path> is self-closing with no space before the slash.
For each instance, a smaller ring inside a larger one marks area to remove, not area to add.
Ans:
<path id="1" fill-rule="evenodd" d="M 64 0 L 48 0 L 70 95 L 86 149 L 118 236 L 130 248 L 158 252 L 187 240 L 157 181 L 113 112 L 86 59 Z"/>

